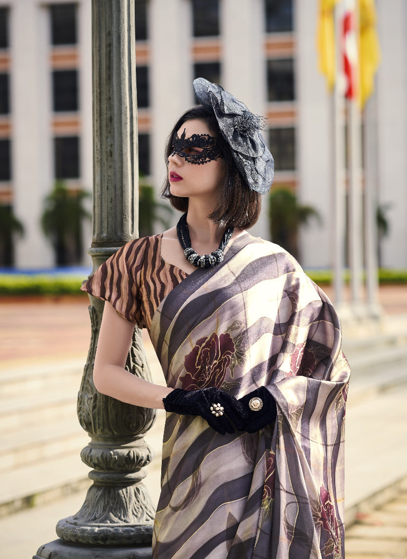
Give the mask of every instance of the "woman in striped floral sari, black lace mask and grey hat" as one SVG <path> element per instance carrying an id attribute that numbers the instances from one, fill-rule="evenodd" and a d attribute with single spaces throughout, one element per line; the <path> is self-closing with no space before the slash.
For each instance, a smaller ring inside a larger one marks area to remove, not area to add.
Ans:
<path id="1" fill-rule="evenodd" d="M 166 150 L 176 228 L 136 239 L 84 289 L 105 299 L 94 383 L 167 411 L 153 557 L 344 557 L 349 367 L 327 297 L 282 248 L 246 229 L 274 162 L 261 119 L 220 86 Z M 149 329 L 167 386 L 125 371 Z"/>

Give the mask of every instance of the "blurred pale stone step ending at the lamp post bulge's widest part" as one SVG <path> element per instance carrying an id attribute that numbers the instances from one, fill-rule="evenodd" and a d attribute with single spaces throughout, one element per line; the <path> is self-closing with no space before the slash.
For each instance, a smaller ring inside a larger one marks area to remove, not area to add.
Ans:
<path id="1" fill-rule="evenodd" d="M 0 433 L 24 429 L 26 425 L 50 424 L 55 419 L 74 418 L 79 386 L 8 398 L 0 409 Z"/>

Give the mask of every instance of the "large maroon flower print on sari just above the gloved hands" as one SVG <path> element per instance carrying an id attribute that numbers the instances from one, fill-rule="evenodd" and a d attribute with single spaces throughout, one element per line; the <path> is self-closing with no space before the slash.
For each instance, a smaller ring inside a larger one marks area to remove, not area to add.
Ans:
<path id="1" fill-rule="evenodd" d="M 234 353 L 230 334 L 216 332 L 200 338 L 193 350 L 184 358 L 186 375 L 180 377 L 184 390 L 197 390 L 207 386 L 222 386 Z"/>

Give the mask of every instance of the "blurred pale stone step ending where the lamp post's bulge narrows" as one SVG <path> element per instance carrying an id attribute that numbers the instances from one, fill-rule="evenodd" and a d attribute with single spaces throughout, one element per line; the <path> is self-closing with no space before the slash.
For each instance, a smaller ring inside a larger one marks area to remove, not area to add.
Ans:
<path id="1" fill-rule="evenodd" d="M 0 436 L 0 475 L 8 470 L 33 466 L 37 462 L 79 454 L 89 442 L 78 418 L 56 418 L 52 423 L 27 425 L 26 428 Z"/>

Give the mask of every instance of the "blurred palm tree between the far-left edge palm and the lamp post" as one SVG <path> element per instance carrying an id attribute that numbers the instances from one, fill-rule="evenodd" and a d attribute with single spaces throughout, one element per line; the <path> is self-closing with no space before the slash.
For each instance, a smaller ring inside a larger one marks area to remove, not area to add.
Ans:
<path id="1" fill-rule="evenodd" d="M 55 250 L 57 266 L 66 266 L 80 260 L 82 255 L 82 222 L 92 219 L 83 205 L 90 192 L 71 191 L 63 181 L 56 181 L 54 189 L 45 198 L 41 226 Z"/>

